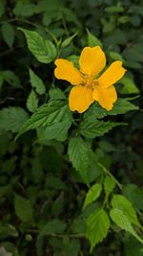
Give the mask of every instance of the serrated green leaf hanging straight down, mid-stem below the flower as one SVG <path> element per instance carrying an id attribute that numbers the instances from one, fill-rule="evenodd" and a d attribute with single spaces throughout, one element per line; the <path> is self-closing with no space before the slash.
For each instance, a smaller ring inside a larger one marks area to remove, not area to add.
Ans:
<path id="1" fill-rule="evenodd" d="M 73 137 L 70 139 L 68 154 L 72 166 L 83 177 L 86 177 L 90 167 L 88 144 L 81 137 Z"/>

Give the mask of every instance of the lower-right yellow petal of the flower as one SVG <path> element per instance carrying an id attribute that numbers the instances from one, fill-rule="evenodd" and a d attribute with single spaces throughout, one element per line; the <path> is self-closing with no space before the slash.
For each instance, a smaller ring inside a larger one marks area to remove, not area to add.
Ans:
<path id="1" fill-rule="evenodd" d="M 113 103 L 117 100 L 116 91 L 113 85 L 108 88 L 100 85 L 95 86 L 92 92 L 92 98 L 107 110 L 111 110 Z"/>

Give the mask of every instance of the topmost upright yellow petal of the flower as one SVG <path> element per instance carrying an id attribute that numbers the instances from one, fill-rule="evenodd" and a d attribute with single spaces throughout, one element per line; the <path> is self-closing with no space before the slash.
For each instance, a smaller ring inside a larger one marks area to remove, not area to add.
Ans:
<path id="1" fill-rule="evenodd" d="M 79 58 L 79 65 L 83 74 L 97 75 L 106 65 L 106 57 L 99 46 L 85 47 Z"/>

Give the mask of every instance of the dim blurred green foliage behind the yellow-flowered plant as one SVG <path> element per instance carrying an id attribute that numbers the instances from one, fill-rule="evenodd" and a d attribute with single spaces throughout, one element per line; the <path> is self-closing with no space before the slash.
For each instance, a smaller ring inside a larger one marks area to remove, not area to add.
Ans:
<path id="1" fill-rule="evenodd" d="M 54 83 L 53 63 L 38 62 L 17 28 L 53 41 L 77 33 L 63 58 L 76 58 L 88 44 L 102 44 L 109 62 L 121 59 L 128 69 L 120 93 L 129 98 L 139 93 L 133 103 L 142 108 L 142 19 L 142 0 L 0 0 L 0 255 L 88 256 L 90 250 L 82 237 L 91 211 L 81 213 L 87 187 L 67 159 L 66 143 L 64 148 L 54 140 L 37 142 L 34 131 L 14 142 L 38 105 L 28 101 L 29 67 L 47 92 Z M 47 97 L 39 93 L 39 105 Z M 115 119 L 129 125 L 96 139 L 95 151 L 143 221 L 143 114 L 133 111 Z M 143 245 L 116 230 L 92 255 L 141 256 Z"/>

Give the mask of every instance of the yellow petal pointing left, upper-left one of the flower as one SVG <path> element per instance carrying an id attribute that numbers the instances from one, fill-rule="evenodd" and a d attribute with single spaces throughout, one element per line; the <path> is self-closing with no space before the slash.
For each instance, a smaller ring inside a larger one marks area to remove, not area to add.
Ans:
<path id="1" fill-rule="evenodd" d="M 55 60 L 54 76 L 59 80 L 70 81 L 73 85 L 80 84 L 82 76 L 80 72 L 74 67 L 72 61 L 64 58 L 57 58 Z"/>

